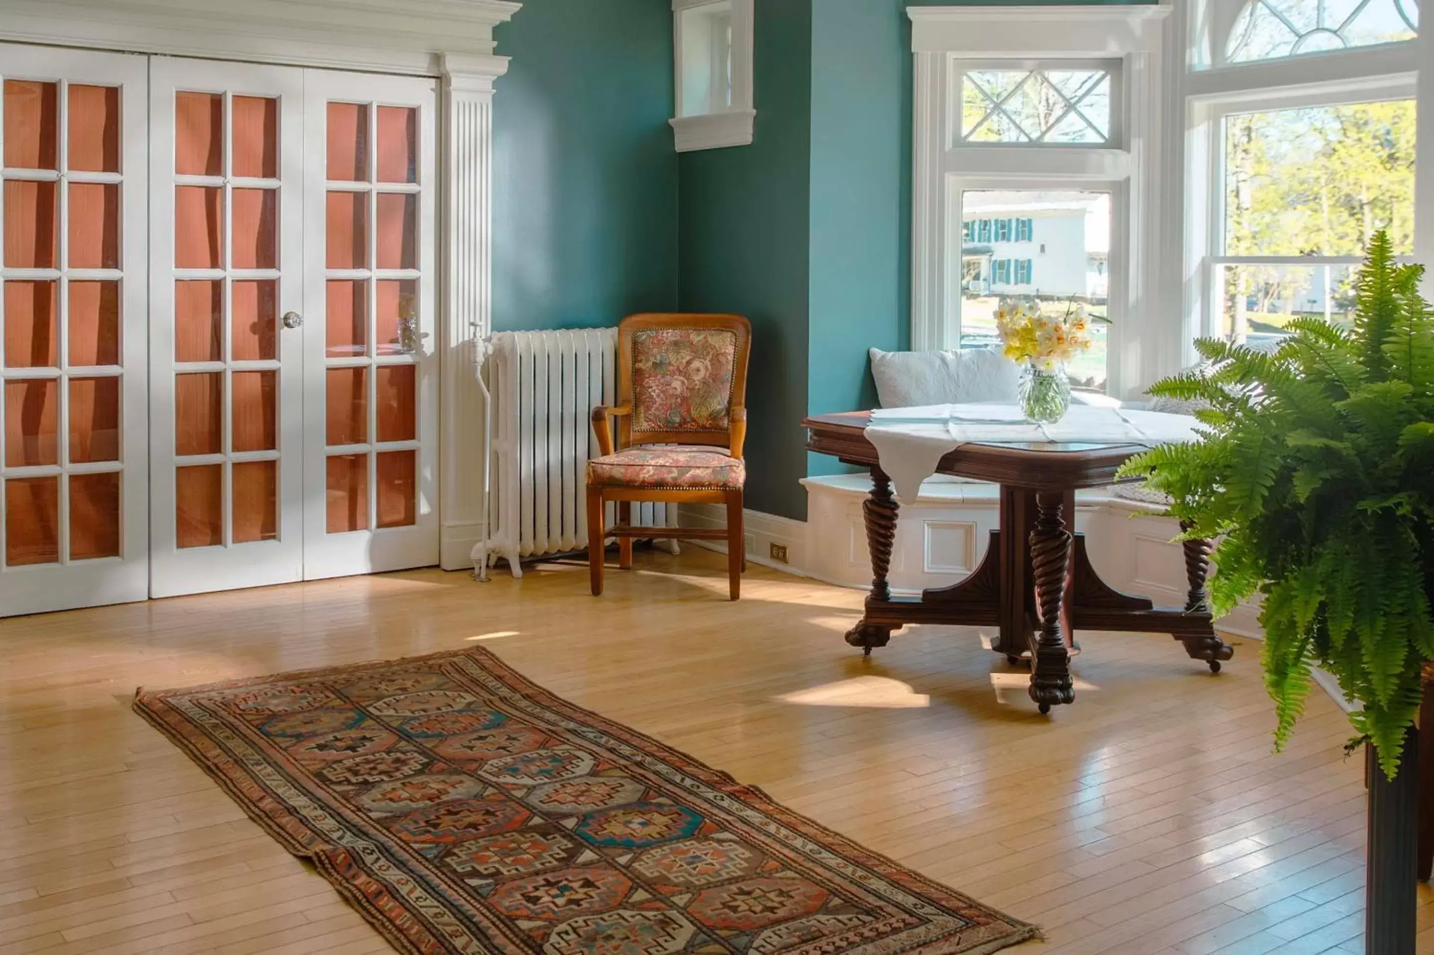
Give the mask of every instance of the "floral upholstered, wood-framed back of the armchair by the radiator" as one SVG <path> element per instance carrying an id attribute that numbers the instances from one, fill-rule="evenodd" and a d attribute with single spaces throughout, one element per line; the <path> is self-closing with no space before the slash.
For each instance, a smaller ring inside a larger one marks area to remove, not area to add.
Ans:
<path id="1" fill-rule="evenodd" d="M 728 446 L 747 402 L 751 327 L 741 315 L 630 315 L 618 326 L 618 445 Z"/>

